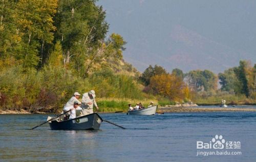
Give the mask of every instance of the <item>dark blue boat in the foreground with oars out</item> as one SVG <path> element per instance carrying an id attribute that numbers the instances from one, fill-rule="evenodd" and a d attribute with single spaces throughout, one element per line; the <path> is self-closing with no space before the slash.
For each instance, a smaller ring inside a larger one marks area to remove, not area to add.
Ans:
<path id="1" fill-rule="evenodd" d="M 97 113 L 91 113 L 66 121 L 53 120 L 48 123 L 52 130 L 98 130 L 102 121 Z"/>

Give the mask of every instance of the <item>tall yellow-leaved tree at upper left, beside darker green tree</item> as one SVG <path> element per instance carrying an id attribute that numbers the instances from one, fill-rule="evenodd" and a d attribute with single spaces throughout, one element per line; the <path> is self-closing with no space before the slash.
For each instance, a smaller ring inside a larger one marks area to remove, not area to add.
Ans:
<path id="1" fill-rule="evenodd" d="M 44 57 L 45 43 L 51 43 L 53 16 L 57 0 L 20 0 L 15 4 L 13 18 L 16 22 L 16 34 L 22 38 L 18 42 L 16 58 L 24 60 L 25 67 L 35 67 Z M 40 51 L 40 55 L 38 52 Z"/>

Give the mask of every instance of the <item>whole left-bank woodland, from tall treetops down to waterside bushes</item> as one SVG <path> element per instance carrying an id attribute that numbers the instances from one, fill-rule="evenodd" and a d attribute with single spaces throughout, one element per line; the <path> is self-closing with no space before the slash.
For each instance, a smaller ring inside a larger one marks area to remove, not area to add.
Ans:
<path id="1" fill-rule="evenodd" d="M 125 41 L 87 0 L 0 1 L 0 107 L 55 111 L 73 95 L 142 98 Z"/>

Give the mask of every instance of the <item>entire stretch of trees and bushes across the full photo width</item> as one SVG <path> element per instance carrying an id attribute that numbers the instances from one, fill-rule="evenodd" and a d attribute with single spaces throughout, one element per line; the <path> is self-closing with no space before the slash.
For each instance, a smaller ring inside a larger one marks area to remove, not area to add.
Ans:
<path id="1" fill-rule="evenodd" d="M 140 75 L 122 60 L 123 38 L 106 36 L 105 11 L 95 3 L 0 1 L 0 109 L 56 111 L 74 91 L 91 89 L 120 103 L 150 98 L 175 104 L 223 94 L 255 100 L 256 65 L 248 61 L 218 76 L 178 68 L 167 73 L 157 65 Z"/>

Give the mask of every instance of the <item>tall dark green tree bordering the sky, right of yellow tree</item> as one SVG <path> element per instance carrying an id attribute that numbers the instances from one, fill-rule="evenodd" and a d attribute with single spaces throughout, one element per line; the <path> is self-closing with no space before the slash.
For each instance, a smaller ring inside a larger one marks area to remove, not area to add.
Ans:
<path id="1" fill-rule="evenodd" d="M 84 63 L 89 55 L 102 45 L 109 28 L 104 18 L 102 7 L 92 0 L 60 0 L 58 3 L 55 40 L 61 41 L 65 64 L 73 58 L 79 73 L 85 71 Z"/>

